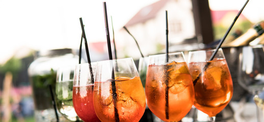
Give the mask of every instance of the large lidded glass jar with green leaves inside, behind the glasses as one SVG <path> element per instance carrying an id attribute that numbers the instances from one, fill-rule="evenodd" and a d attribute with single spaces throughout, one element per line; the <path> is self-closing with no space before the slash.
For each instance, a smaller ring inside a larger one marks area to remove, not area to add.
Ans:
<path id="1" fill-rule="evenodd" d="M 59 67 L 77 64 L 78 56 L 73 54 L 72 49 L 37 52 L 37 58 L 28 69 L 33 90 L 35 121 L 56 121 L 57 115 L 60 120 L 63 119 L 59 112 L 55 112 L 55 103 L 52 104 L 51 93 L 55 96 L 56 72 Z"/>

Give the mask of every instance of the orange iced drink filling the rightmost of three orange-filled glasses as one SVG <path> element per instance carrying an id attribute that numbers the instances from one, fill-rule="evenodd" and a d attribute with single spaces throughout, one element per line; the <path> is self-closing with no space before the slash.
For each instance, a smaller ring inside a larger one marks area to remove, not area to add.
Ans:
<path id="1" fill-rule="evenodd" d="M 194 106 L 208 114 L 215 116 L 222 111 L 232 98 L 233 87 L 226 60 L 216 59 L 210 65 L 194 86 Z M 193 79 L 202 72 L 201 67 L 206 63 L 190 63 L 189 68 Z"/>

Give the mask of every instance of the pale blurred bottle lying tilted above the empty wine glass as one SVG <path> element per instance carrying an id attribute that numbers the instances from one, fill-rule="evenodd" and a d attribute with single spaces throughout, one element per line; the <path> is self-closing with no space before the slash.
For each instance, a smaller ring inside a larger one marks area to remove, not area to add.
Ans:
<path id="1" fill-rule="evenodd" d="M 252 28 L 249 28 L 246 33 L 236 38 L 235 40 L 222 45 L 222 47 L 237 47 L 237 46 L 246 46 L 257 37 L 261 36 L 264 33 L 264 21 L 256 23 Z"/>

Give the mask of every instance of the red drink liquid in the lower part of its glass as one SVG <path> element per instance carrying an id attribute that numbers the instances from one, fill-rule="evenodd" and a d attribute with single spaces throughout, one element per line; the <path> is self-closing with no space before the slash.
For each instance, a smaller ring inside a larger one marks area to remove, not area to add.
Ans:
<path id="1" fill-rule="evenodd" d="M 93 84 L 73 86 L 73 106 L 77 115 L 84 121 L 100 121 L 93 106 Z"/>

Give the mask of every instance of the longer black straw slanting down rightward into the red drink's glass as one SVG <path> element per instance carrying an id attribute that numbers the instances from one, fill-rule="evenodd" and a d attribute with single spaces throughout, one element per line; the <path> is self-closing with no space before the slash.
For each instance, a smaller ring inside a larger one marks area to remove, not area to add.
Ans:
<path id="1" fill-rule="evenodd" d="M 83 31 L 83 38 L 84 38 L 84 42 L 85 42 L 85 50 L 86 50 L 87 60 L 88 60 L 88 64 L 89 64 L 89 70 L 90 70 L 90 74 L 91 74 L 91 81 L 92 81 L 92 83 L 94 83 L 93 69 L 92 69 L 92 66 L 91 66 L 91 59 L 90 59 L 87 39 L 86 39 L 86 36 L 85 36 L 84 24 L 83 24 L 82 17 L 80 18 L 80 23 L 81 23 L 81 27 L 82 27 L 82 31 Z"/>

